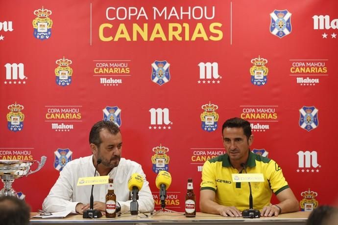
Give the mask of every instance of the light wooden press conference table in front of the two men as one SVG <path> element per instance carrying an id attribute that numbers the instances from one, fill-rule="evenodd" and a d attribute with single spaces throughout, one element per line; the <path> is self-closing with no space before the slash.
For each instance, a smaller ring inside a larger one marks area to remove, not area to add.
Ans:
<path id="1" fill-rule="evenodd" d="M 149 214 L 148 214 L 149 215 Z M 166 225 L 186 225 L 189 224 L 198 224 L 198 225 L 207 225 L 207 224 L 219 224 L 226 223 L 229 225 L 249 225 L 249 224 L 264 224 L 264 225 L 304 225 L 307 218 L 309 217 L 310 212 L 294 212 L 286 213 L 279 215 L 278 217 L 262 217 L 255 219 L 244 219 L 244 218 L 229 218 L 221 217 L 218 215 L 212 215 L 207 213 L 196 213 L 196 217 L 186 218 L 183 215 L 178 213 L 170 212 L 160 212 L 156 215 L 149 215 L 145 217 L 143 214 L 138 216 L 132 216 L 130 214 L 124 214 L 121 217 L 117 218 L 105 218 L 105 216 L 99 219 L 83 219 L 82 215 L 68 215 L 64 219 L 31 219 L 31 225 L 73 225 L 73 224 L 89 224 L 89 225 L 107 225 L 107 224 L 166 224 Z"/>

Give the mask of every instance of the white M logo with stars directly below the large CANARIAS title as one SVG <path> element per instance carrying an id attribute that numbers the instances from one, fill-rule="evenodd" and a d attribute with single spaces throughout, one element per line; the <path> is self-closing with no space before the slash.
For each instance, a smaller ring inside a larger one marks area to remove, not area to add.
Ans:
<path id="1" fill-rule="evenodd" d="M 222 77 L 218 74 L 218 63 L 199 63 L 198 84 L 219 84 Z"/>

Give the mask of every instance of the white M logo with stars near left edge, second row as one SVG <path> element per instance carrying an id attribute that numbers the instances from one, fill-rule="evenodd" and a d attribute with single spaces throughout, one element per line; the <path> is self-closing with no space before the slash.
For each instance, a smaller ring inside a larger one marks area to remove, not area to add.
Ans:
<path id="1" fill-rule="evenodd" d="M 28 79 L 24 75 L 24 64 L 23 63 L 7 63 L 4 65 L 6 68 L 6 81 L 5 85 L 21 85 L 26 84 L 26 80 Z"/>

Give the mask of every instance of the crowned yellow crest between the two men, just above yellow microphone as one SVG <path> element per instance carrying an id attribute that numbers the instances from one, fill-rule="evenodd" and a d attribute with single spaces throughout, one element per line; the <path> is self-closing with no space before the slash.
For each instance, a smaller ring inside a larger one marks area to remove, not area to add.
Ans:
<path id="1" fill-rule="evenodd" d="M 155 155 L 151 157 L 152 171 L 156 174 L 158 174 L 161 170 L 168 171 L 170 158 L 166 153 L 169 152 L 169 148 L 160 144 L 160 146 L 153 148 L 152 151 L 155 152 Z"/>

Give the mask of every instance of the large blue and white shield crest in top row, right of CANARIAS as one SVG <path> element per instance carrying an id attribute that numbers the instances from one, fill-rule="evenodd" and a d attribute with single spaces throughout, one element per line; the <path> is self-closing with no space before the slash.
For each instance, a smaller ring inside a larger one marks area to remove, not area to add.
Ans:
<path id="1" fill-rule="evenodd" d="M 291 13 L 285 10 L 274 10 L 270 13 L 271 23 L 270 32 L 279 38 L 291 33 Z"/>

